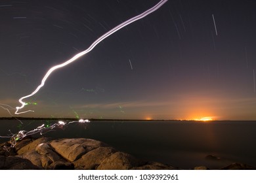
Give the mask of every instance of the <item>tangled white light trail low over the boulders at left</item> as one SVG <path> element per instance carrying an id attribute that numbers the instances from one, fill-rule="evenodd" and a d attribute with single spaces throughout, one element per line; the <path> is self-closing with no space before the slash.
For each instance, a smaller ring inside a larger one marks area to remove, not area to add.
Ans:
<path id="1" fill-rule="evenodd" d="M 74 124 L 74 123 L 85 124 L 85 123 L 89 123 L 89 122 L 90 122 L 89 120 L 80 119 L 78 121 L 67 122 L 67 123 L 59 121 L 58 123 L 55 123 L 53 125 L 42 124 L 39 127 L 35 128 L 31 131 L 21 130 L 21 131 L 18 131 L 18 133 L 12 134 L 11 136 L 5 136 L 5 137 L 0 136 L 0 138 L 11 138 L 11 140 L 10 140 L 11 148 L 13 148 L 18 141 L 21 141 L 24 137 L 28 137 L 29 135 L 34 135 L 36 133 L 39 133 L 40 135 L 43 135 L 44 133 L 47 133 L 49 131 L 53 131 L 53 129 L 62 128 L 64 126 L 67 126 L 67 125 L 70 125 L 70 124 Z"/>

